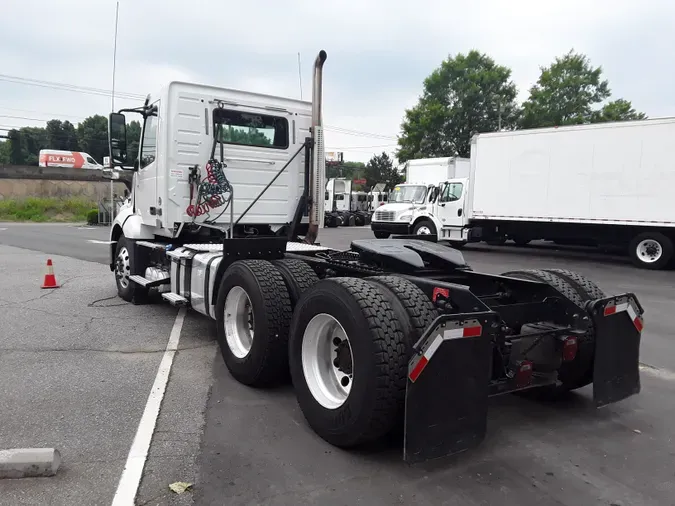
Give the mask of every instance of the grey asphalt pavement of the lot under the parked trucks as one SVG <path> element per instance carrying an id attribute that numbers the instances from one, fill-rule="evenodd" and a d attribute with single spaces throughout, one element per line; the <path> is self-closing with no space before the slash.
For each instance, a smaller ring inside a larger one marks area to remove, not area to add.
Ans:
<path id="1" fill-rule="evenodd" d="M 339 248 L 365 237 L 367 228 L 320 234 Z M 0 246 L 0 448 L 57 446 L 64 461 L 53 478 L 0 481 L 2 505 L 112 500 L 176 310 L 117 299 L 101 265 L 106 241 L 103 227 L 0 224 L 0 244 L 15 246 Z M 232 380 L 212 324 L 188 313 L 138 503 L 675 504 L 675 273 L 582 248 L 463 253 L 475 270 L 562 267 L 608 293 L 635 292 L 646 309 L 642 393 L 601 410 L 590 388 L 554 405 L 491 399 L 479 448 L 410 467 L 398 441 L 356 452 L 329 446 L 307 427 L 290 387 Z M 50 292 L 39 289 L 47 256 L 65 282 Z M 176 496 L 173 481 L 194 491 Z"/>

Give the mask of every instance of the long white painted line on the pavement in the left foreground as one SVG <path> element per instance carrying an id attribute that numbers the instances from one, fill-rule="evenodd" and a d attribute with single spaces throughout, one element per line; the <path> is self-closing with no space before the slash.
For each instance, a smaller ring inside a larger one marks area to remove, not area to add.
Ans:
<path id="1" fill-rule="evenodd" d="M 141 483 L 143 469 L 145 468 L 145 460 L 148 457 L 150 443 L 152 442 L 155 425 L 159 417 L 159 410 L 162 406 L 162 399 L 164 398 L 166 385 L 169 381 L 173 357 L 178 349 L 178 341 L 181 329 L 183 328 L 183 321 L 185 320 L 185 312 L 185 308 L 181 308 L 178 311 L 176 321 L 171 329 L 169 342 L 166 345 L 162 361 L 159 364 L 157 376 L 148 396 L 143 416 L 138 424 L 136 436 L 131 445 L 131 450 L 129 450 L 127 462 L 117 485 L 117 492 L 115 492 L 112 506 L 134 506 L 135 504 L 136 493 L 138 492 L 138 486 Z"/>

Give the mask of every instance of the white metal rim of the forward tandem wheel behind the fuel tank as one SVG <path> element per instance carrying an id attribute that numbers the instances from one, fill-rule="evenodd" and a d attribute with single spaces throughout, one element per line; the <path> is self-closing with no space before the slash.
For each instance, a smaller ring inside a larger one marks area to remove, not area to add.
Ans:
<path id="1" fill-rule="evenodd" d="M 251 351 L 255 330 L 253 307 L 246 290 L 233 287 L 225 297 L 225 338 L 227 346 L 237 358 Z"/>

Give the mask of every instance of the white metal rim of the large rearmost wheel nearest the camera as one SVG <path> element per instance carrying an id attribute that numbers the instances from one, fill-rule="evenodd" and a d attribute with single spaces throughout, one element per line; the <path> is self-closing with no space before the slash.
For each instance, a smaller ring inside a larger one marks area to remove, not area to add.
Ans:
<path id="1" fill-rule="evenodd" d="M 329 314 L 316 315 L 302 336 L 302 371 L 314 399 L 327 409 L 342 406 L 352 388 L 353 370 L 345 329 Z"/>

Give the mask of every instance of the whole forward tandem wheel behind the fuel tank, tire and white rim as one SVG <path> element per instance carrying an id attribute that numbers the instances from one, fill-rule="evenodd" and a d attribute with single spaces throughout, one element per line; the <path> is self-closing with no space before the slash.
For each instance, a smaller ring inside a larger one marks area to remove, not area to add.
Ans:
<path id="1" fill-rule="evenodd" d="M 228 267 L 218 290 L 217 338 L 237 381 L 264 386 L 286 376 L 291 311 L 284 279 L 270 262 L 241 260 Z"/>

